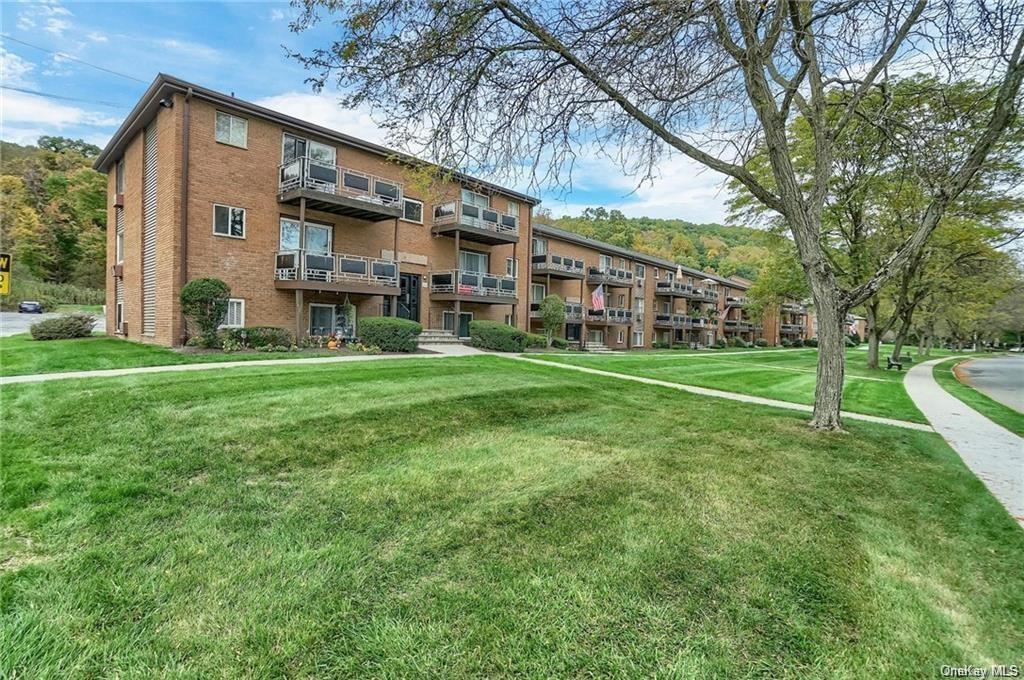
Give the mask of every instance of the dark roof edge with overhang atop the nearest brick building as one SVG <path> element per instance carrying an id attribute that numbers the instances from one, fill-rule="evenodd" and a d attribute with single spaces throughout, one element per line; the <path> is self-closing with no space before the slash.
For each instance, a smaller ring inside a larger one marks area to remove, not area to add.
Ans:
<path id="1" fill-rule="evenodd" d="M 386 146 L 381 146 L 380 144 L 375 144 L 371 141 L 359 139 L 358 137 L 353 137 L 343 132 L 338 132 L 337 130 L 332 130 L 314 123 L 293 118 L 292 116 L 282 114 L 271 109 L 266 109 L 265 107 L 260 107 L 251 101 L 239 99 L 230 94 L 217 92 L 216 90 L 211 90 L 209 88 L 202 87 L 201 85 L 189 83 L 188 81 L 181 80 L 180 78 L 175 78 L 174 76 L 162 73 L 158 74 L 156 79 L 154 79 L 153 83 L 145 90 L 145 93 L 142 94 L 142 97 L 138 100 L 138 103 L 136 103 L 135 108 L 131 110 L 130 114 L 128 114 L 128 117 L 125 119 L 124 123 L 121 124 L 121 127 L 118 128 L 118 131 L 114 133 L 114 136 L 106 143 L 103 151 L 99 153 L 99 156 L 96 158 L 92 167 L 100 172 L 106 172 L 108 168 L 110 168 L 114 161 L 121 158 L 124 154 L 124 148 L 128 145 L 128 142 L 131 141 L 131 139 L 133 139 L 135 135 L 154 119 L 157 112 L 160 110 L 160 102 L 162 99 L 165 99 L 174 93 L 185 94 L 189 91 L 194 97 L 205 99 L 216 104 L 217 107 L 230 109 L 247 116 L 272 121 L 280 125 L 307 132 L 325 139 L 330 139 L 347 146 L 368 152 L 370 154 L 383 156 L 389 159 L 397 159 L 411 165 L 432 165 L 408 154 L 402 154 L 387 148 Z M 501 192 L 502 194 L 506 194 L 530 205 L 537 205 L 541 202 L 538 198 L 527 196 L 526 194 L 520 194 L 519 192 L 514 192 L 510 188 L 506 188 L 499 184 L 495 184 L 471 175 L 455 171 L 451 172 L 453 178 L 467 184 L 475 184 L 493 192 Z"/>

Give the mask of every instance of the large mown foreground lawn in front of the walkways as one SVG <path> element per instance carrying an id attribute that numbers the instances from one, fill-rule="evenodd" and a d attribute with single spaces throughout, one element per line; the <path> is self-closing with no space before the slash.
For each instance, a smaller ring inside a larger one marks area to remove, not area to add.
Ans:
<path id="1" fill-rule="evenodd" d="M 0 676 L 936 676 L 1024 656 L 938 435 L 494 356 L 9 385 Z"/>

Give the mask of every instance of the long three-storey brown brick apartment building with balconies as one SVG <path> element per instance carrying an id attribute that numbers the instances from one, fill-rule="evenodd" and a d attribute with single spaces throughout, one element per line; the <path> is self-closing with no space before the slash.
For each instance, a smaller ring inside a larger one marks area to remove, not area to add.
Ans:
<path id="1" fill-rule="evenodd" d="M 566 339 L 613 348 L 808 328 L 796 302 L 756 326 L 750 282 L 534 224 L 535 198 L 170 76 L 95 167 L 111 197 L 106 327 L 133 340 L 180 344 L 178 293 L 202 277 L 230 286 L 225 325 L 298 337 L 356 335 L 374 315 L 460 336 L 479 318 L 536 329 L 550 293 Z"/>

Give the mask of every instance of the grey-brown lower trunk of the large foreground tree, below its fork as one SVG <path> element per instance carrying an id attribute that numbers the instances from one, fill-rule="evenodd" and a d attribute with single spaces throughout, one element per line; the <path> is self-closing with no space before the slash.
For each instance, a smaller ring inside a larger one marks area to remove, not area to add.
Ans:
<path id="1" fill-rule="evenodd" d="M 839 291 L 834 286 L 815 281 L 815 277 L 809 279 L 818 314 L 818 373 L 811 427 L 841 430 L 843 372 L 846 369 L 846 336 L 843 333 L 846 309 L 841 305 Z"/>

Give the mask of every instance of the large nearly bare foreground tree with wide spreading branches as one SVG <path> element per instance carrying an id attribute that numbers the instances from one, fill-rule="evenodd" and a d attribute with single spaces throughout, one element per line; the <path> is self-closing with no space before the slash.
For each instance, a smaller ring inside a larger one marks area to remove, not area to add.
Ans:
<path id="1" fill-rule="evenodd" d="M 326 15 L 341 33 L 295 54 L 313 85 L 334 79 L 343 104 L 370 105 L 393 141 L 438 163 L 557 183 L 582 154 L 602 154 L 643 181 L 682 154 L 781 215 L 818 313 L 820 429 L 841 426 L 847 310 L 920 251 L 1017 115 L 1024 78 L 1024 11 L 1010 2 L 297 1 L 296 31 Z M 995 105 L 930 187 L 912 235 L 847 290 L 821 241 L 833 146 L 867 94 L 906 69 L 984 72 Z M 846 94 L 838 112 L 835 90 Z M 797 114 L 815 141 L 810 181 L 798 176 L 786 135 Z M 757 145 L 770 183 L 746 167 Z"/>

